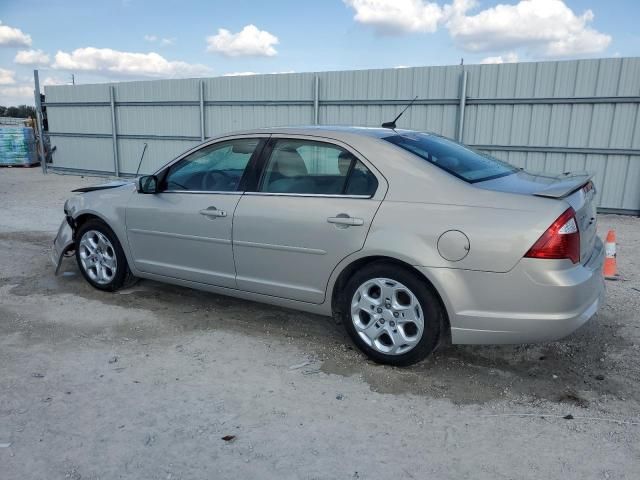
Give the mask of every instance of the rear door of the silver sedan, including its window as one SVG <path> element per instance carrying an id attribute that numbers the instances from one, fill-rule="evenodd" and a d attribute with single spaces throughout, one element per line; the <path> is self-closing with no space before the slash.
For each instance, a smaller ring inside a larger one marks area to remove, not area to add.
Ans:
<path id="1" fill-rule="evenodd" d="M 272 138 L 264 157 L 234 216 L 238 288 L 322 303 L 335 266 L 364 245 L 386 181 L 347 145 L 317 137 Z"/>

